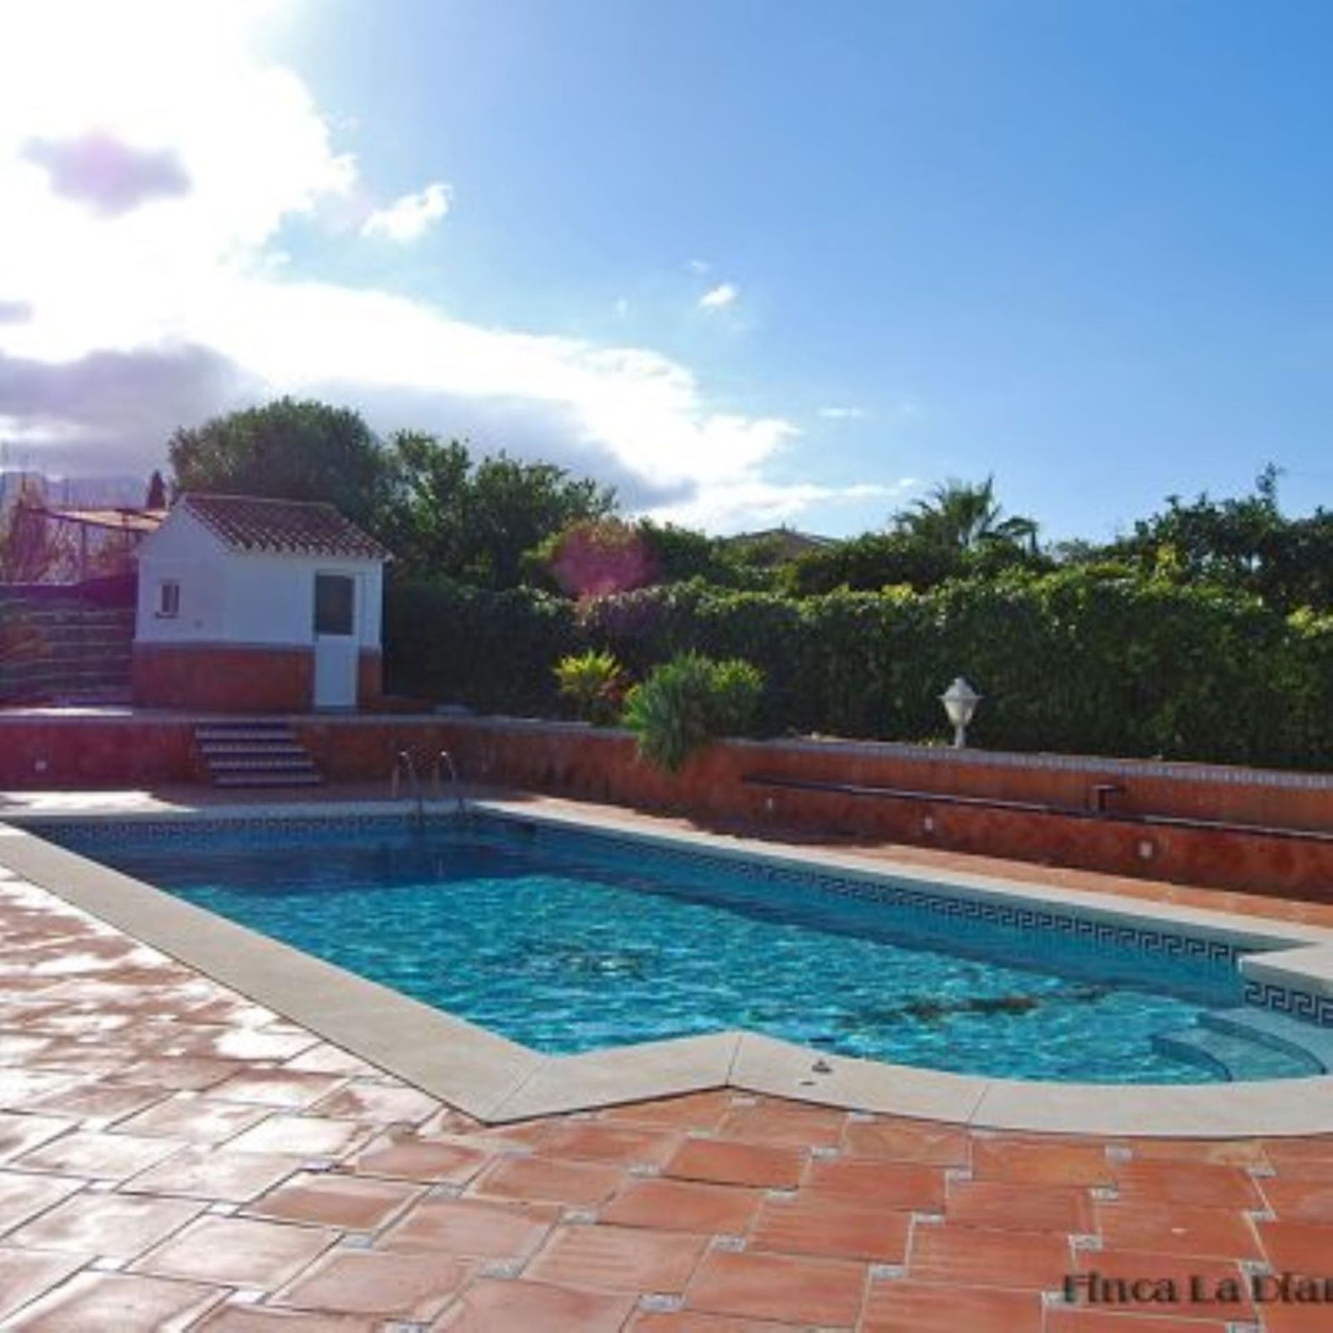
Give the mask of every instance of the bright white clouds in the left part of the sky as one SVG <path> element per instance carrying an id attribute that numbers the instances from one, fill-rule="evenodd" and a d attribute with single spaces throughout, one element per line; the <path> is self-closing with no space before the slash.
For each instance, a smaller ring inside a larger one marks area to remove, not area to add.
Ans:
<path id="1" fill-rule="evenodd" d="M 690 521 L 762 525 L 838 495 L 770 484 L 797 428 L 717 411 L 660 352 L 471 324 L 303 272 L 280 229 L 369 225 L 372 192 L 305 84 L 257 55 L 264 9 L 0 5 L 0 439 L 69 472 L 147 472 L 177 425 L 311 393 L 381 431 L 551 457 Z M 89 135 L 132 149 L 111 208 L 83 177 L 53 189 L 25 149 Z M 379 216 L 401 239 L 447 205 L 431 185 Z M 736 295 L 722 284 L 706 308 Z"/>

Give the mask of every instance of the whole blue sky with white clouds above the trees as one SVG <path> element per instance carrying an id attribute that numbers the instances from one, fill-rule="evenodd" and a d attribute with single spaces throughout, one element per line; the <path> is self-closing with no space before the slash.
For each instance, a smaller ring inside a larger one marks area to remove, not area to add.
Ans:
<path id="1" fill-rule="evenodd" d="M 9 143 L 52 269 L 141 264 L 125 309 L 0 260 L 0 439 L 55 465 L 308 392 L 718 531 L 990 473 L 1053 537 L 1268 461 L 1333 499 L 1328 4 L 140 8 L 156 101 L 83 79 Z"/>

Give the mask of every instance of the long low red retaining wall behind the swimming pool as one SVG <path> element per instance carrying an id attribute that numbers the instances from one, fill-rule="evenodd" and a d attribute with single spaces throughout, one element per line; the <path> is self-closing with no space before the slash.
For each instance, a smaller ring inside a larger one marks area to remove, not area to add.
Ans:
<path id="1" fill-rule="evenodd" d="M 408 749 L 425 780 L 449 749 L 464 780 L 876 841 L 1333 901 L 1333 777 L 834 741 L 729 741 L 674 777 L 621 732 L 559 722 L 420 716 L 292 717 L 331 781 L 383 782 Z M 200 778 L 195 718 L 0 714 L 0 788 L 125 788 Z M 853 784 L 853 794 L 760 780 Z M 1105 816 L 1092 788 L 1124 788 Z M 969 797 L 980 804 L 958 804 Z M 1005 809 L 1022 801 L 1042 809 Z M 1201 820 L 1198 828 L 1161 820 Z M 1266 830 L 1264 826 L 1269 826 Z"/>

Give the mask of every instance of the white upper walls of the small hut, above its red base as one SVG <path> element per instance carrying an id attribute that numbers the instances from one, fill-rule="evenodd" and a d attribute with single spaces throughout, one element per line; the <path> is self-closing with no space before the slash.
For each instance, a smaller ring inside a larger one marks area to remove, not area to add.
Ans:
<path id="1" fill-rule="evenodd" d="M 315 641 L 315 575 L 357 577 L 357 643 L 380 647 L 384 567 L 377 560 L 247 555 L 228 549 L 193 515 L 173 511 L 139 547 L 141 643 L 307 645 Z M 160 616 L 159 587 L 180 584 L 180 615 Z"/>

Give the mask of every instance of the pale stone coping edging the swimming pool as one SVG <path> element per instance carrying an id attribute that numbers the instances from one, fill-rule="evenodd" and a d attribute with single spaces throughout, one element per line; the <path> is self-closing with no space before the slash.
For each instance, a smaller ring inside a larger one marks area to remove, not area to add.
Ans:
<path id="1" fill-rule="evenodd" d="M 645 829 L 629 820 L 593 817 L 591 810 L 577 816 L 533 810 L 521 801 L 475 805 L 487 814 L 528 824 L 612 833 L 718 857 L 760 857 L 854 878 L 916 881 L 940 890 L 938 874 L 841 849 L 774 850 L 752 838 Z M 431 813 L 447 812 L 448 802 L 431 802 Z M 403 817 L 404 810 L 401 802 L 357 801 L 141 813 L 7 812 L 8 822 L 0 824 L 0 865 L 487 1124 L 733 1088 L 844 1110 L 997 1130 L 1189 1138 L 1333 1133 L 1333 1074 L 1234 1084 L 1037 1082 L 833 1056 L 741 1030 L 545 1056 L 40 837 L 44 824 L 368 814 Z M 1274 985 L 1298 982 L 1318 996 L 1333 996 L 1333 929 L 953 870 L 948 890 L 1058 904 L 1062 912 L 1082 917 L 1150 921 L 1194 936 L 1276 946 L 1241 961 L 1248 977 Z"/>

